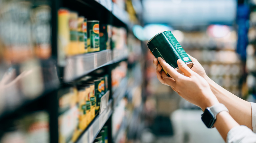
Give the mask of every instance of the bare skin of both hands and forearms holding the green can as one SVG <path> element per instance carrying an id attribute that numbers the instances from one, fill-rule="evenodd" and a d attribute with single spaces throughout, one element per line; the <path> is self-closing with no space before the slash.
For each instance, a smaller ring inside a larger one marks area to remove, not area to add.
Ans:
<path id="1" fill-rule="evenodd" d="M 243 101 L 232 93 L 226 91 L 224 88 L 218 86 L 205 74 L 205 71 L 199 62 L 191 56 L 190 58 L 194 63 L 192 69 L 188 68 L 181 59 L 177 61 L 178 66 L 184 75 L 178 73 L 162 58 L 158 59 L 160 63 L 158 63 L 158 60 L 155 58 L 153 63 L 157 69 L 157 77 L 159 81 L 162 84 L 172 87 L 172 89 L 182 98 L 199 106 L 203 111 L 206 107 L 210 107 L 218 103 L 226 105 L 230 114 L 226 111 L 220 112 L 217 115 L 217 120 L 214 124 L 224 140 L 226 140 L 229 130 L 235 126 L 239 126 L 241 124 L 251 127 L 250 103 Z M 166 75 L 162 70 L 162 67 L 171 77 Z M 249 111 L 245 112 L 245 110 Z M 243 117 L 243 120 L 241 117 Z M 245 117 L 249 117 L 249 119 L 245 119 Z"/>

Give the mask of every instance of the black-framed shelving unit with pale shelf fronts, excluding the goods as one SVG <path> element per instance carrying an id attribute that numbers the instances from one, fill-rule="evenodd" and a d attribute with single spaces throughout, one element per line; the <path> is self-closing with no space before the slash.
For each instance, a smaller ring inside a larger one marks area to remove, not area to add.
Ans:
<path id="1" fill-rule="evenodd" d="M 20 0 L 22 1 L 22 0 Z M 32 0 L 31 3 L 37 2 Z M 109 76 L 109 91 L 105 94 L 109 97 L 102 97 L 100 113 L 86 127 L 79 135 L 74 143 L 93 143 L 96 136 L 104 125 L 109 126 L 109 142 L 114 140 L 111 136 L 111 117 L 117 104 L 126 95 L 128 87 L 127 77 L 123 78 L 117 90 L 112 92 L 111 86 L 111 71 L 115 66 L 122 62 L 128 61 L 129 52 L 127 47 L 120 47 L 114 49 L 103 50 L 94 53 L 86 53 L 74 56 L 66 56 L 65 66 L 58 64 L 58 10 L 60 8 L 68 8 L 83 15 L 88 20 L 98 20 L 100 24 L 110 24 L 116 27 L 123 27 L 127 33 L 132 33 L 133 23 L 129 19 L 129 14 L 112 0 L 46 0 L 47 5 L 51 8 L 51 57 L 46 60 L 40 60 L 43 78 L 43 90 L 40 94 L 33 98 L 23 98 L 22 101 L 9 107 L 0 107 L 0 127 L 5 126 L 5 122 L 14 120 L 16 117 L 23 116 L 23 112 L 34 112 L 44 110 L 48 114 L 49 122 L 49 142 L 59 142 L 59 91 L 66 88 L 65 86 L 76 83 L 78 80 L 91 74 L 98 69 L 104 69 Z M 1 20 L 1 19 L 0 19 Z M 0 47 L 1 48 L 1 47 Z M 1 54 L 1 50 L 0 50 Z M 0 55 L 1 56 L 1 55 Z M 1 65 L 1 57 L 0 57 Z M 20 65 L 17 65 L 19 68 Z M 1 75 L 1 74 L 0 74 Z M 1 77 L 0 77 L 1 78 Z M 15 85 L 20 87 L 20 83 Z M 8 89 L 6 93 L 10 91 Z M 15 96 L 23 97 L 24 95 L 18 88 L 17 92 L 13 92 Z M 11 93 L 11 92 L 10 92 Z M 19 94 L 17 94 L 19 93 Z M 1 93 L 0 93 L 1 94 Z M 42 107 L 39 107 L 43 105 Z M 2 111 L 1 111 L 2 110 Z M 31 111 L 32 110 L 32 111 Z M 67 108 L 67 110 L 69 110 Z M 66 109 L 63 110 L 65 112 Z M 62 112 L 61 112 L 62 113 Z M 26 113 L 27 114 L 27 113 Z M 62 113 L 63 114 L 63 113 Z M 3 129 L 4 130 L 4 129 Z M 4 131 L 0 130 L 1 135 Z"/>

